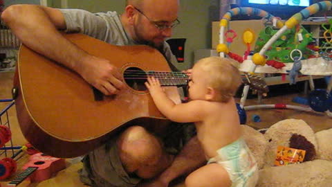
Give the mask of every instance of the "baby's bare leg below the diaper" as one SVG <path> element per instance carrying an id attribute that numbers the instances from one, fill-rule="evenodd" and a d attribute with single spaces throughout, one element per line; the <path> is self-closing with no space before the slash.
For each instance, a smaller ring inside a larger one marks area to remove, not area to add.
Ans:
<path id="1" fill-rule="evenodd" d="M 210 163 L 192 172 L 185 179 L 186 187 L 230 187 L 232 181 L 228 172 L 218 163 Z"/>

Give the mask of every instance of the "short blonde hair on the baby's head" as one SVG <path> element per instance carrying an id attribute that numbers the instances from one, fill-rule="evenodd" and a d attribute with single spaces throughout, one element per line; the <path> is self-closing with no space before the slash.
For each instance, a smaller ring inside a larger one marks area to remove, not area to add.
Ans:
<path id="1" fill-rule="evenodd" d="M 206 73 L 208 86 L 217 92 L 218 101 L 228 102 L 242 83 L 239 69 L 227 58 L 205 57 L 196 62 L 195 66 Z"/>

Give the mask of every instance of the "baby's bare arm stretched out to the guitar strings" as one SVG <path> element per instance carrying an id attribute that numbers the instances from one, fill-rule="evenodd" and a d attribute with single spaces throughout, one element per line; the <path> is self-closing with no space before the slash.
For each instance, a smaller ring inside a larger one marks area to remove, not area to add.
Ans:
<path id="1" fill-rule="evenodd" d="M 171 99 L 167 97 L 160 83 L 156 78 L 148 78 L 148 82 L 145 85 L 150 91 L 151 97 L 154 103 L 160 110 L 171 121 L 187 123 L 202 121 L 204 102 L 203 100 L 192 100 L 189 103 L 181 103 L 176 105 Z"/>

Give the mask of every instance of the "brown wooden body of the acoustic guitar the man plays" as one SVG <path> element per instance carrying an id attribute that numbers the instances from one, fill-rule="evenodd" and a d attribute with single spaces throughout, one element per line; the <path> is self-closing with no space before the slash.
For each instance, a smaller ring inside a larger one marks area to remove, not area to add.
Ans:
<path id="1" fill-rule="evenodd" d="M 170 71 L 163 55 L 148 46 L 113 46 L 82 34 L 64 36 L 84 51 L 109 60 L 122 75 L 132 68 Z M 53 157 L 86 154 L 129 125 L 149 128 L 168 122 L 147 90 L 127 84 L 120 94 L 97 101 L 80 75 L 24 45 L 14 87 L 21 131 L 37 150 Z M 165 92 L 181 103 L 176 87 L 165 87 Z"/>

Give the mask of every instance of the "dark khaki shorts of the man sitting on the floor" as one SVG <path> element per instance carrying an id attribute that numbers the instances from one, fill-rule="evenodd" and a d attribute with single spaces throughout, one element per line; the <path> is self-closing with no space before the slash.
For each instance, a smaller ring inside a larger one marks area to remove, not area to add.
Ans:
<path id="1" fill-rule="evenodd" d="M 178 154 L 183 145 L 196 135 L 192 123 L 177 124 L 169 126 L 163 140 L 165 149 L 169 154 Z M 84 157 L 84 167 L 80 170 L 80 179 L 84 184 L 98 187 L 133 187 L 142 179 L 136 175 L 125 172 L 120 157 L 116 140 L 118 136 L 110 139 L 106 144 L 97 148 Z"/>

